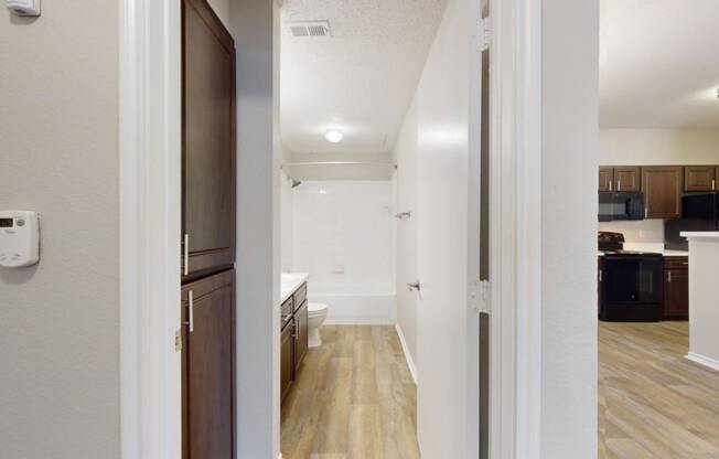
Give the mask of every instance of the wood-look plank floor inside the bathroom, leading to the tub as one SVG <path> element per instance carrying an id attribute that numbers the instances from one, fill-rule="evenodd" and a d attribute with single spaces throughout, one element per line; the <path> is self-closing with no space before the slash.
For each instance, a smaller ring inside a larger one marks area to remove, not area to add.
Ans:
<path id="1" fill-rule="evenodd" d="M 417 388 L 395 328 L 320 333 L 282 404 L 283 459 L 419 459 Z"/>

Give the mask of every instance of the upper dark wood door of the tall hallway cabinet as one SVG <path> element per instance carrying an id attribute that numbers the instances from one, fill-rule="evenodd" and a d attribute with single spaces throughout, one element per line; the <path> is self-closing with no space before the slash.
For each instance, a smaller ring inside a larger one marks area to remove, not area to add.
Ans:
<path id="1" fill-rule="evenodd" d="M 235 44 L 205 0 L 182 11 L 182 226 L 197 277 L 235 260 Z"/>

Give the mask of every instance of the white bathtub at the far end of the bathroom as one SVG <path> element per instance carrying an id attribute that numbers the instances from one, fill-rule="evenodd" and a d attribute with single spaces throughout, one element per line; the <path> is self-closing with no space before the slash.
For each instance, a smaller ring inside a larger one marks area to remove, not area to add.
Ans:
<path id="1" fill-rule="evenodd" d="M 308 284 L 311 302 L 328 305 L 328 324 L 394 325 L 397 295 L 385 286 L 332 286 Z"/>

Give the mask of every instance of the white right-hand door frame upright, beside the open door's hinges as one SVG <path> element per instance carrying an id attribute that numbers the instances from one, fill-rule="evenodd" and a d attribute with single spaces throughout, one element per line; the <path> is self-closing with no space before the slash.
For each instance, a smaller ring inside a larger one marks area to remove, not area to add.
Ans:
<path id="1" fill-rule="evenodd" d="M 541 2 L 490 0 L 490 458 L 539 459 Z"/>

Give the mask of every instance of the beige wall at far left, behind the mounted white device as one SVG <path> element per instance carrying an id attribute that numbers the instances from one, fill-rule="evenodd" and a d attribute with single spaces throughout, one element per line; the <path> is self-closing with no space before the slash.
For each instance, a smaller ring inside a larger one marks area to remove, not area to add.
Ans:
<path id="1" fill-rule="evenodd" d="M 42 260 L 0 268 L 0 456 L 119 458 L 118 3 L 0 8 L 0 209 Z"/>

